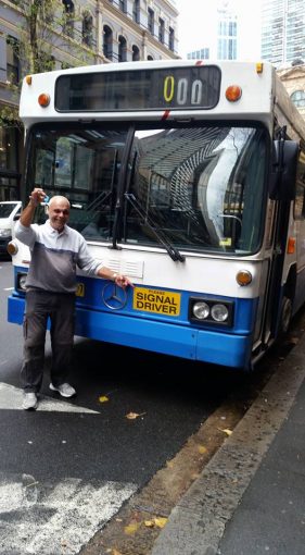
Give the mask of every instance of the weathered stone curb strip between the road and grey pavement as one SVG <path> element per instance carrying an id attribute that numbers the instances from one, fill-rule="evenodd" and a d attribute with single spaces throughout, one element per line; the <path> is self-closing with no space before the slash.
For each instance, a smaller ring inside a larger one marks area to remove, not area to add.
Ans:
<path id="1" fill-rule="evenodd" d="M 305 379 L 305 334 L 173 509 L 151 555 L 215 555 Z"/>

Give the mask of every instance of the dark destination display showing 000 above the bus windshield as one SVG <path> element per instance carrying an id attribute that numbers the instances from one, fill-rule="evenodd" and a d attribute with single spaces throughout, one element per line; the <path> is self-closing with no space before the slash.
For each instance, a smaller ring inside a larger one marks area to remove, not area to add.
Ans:
<path id="1" fill-rule="evenodd" d="M 219 99 L 220 79 L 216 65 L 61 75 L 55 108 L 60 112 L 211 110 Z"/>

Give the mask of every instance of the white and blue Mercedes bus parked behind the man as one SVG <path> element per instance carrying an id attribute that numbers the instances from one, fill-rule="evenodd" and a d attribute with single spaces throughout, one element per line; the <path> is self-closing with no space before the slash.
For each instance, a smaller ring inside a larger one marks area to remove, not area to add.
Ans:
<path id="1" fill-rule="evenodd" d="M 135 285 L 79 271 L 76 335 L 252 370 L 305 300 L 305 124 L 274 66 L 27 75 L 20 116 L 23 202 L 34 187 L 66 196 L 92 256 Z M 9 250 L 8 319 L 21 324 L 30 254 Z"/>

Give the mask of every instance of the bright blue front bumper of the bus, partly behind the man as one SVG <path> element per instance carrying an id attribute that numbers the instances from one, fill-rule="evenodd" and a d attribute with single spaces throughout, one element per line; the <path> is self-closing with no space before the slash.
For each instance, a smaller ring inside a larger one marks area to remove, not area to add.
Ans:
<path id="1" fill-rule="evenodd" d="M 24 298 L 9 297 L 8 320 L 22 324 Z M 76 335 L 233 368 L 250 368 L 251 335 L 203 330 L 76 306 Z"/>

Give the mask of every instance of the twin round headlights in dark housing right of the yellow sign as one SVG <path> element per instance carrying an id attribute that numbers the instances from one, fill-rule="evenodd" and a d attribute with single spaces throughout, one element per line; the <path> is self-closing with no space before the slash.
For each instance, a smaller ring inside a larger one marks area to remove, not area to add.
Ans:
<path id="1" fill-rule="evenodd" d="M 189 300 L 189 320 L 192 323 L 232 326 L 233 308 L 234 304 L 232 301 L 191 297 Z"/>

